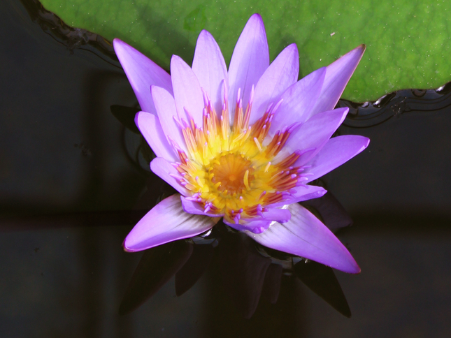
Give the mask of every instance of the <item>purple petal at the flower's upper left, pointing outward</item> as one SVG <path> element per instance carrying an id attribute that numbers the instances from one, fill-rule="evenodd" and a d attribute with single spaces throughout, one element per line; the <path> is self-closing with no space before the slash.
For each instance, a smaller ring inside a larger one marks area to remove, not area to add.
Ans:
<path id="1" fill-rule="evenodd" d="M 150 96 L 149 88 L 155 84 L 172 94 L 171 77 L 160 66 L 157 66 L 144 54 L 138 52 L 124 41 L 118 38 L 113 40 L 113 47 L 122 68 L 124 68 L 127 78 L 133 88 L 136 98 L 138 98 L 141 110 L 155 113 L 155 107 Z"/>

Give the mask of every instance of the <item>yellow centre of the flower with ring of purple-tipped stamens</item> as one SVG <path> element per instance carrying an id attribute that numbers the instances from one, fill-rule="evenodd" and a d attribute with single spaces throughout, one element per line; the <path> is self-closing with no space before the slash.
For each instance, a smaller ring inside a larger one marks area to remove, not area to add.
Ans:
<path id="1" fill-rule="evenodd" d="M 266 140 L 280 102 L 270 105 L 249 126 L 253 88 L 245 110 L 240 94 L 238 90 L 234 124 L 229 126 L 227 93 L 219 117 L 208 95 L 203 93 L 202 128 L 192 120 L 179 123 L 187 154 L 178 149 L 180 163 L 173 163 L 182 177 L 180 183 L 192 192 L 191 200 L 206 212 L 224 215 L 235 223 L 262 217 L 266 205 L 282 201 L 290 189 L 302 184 L 302 169 L 293 168 L 298 153 L 274 162 L 287 142 L 289 128 Z"/>

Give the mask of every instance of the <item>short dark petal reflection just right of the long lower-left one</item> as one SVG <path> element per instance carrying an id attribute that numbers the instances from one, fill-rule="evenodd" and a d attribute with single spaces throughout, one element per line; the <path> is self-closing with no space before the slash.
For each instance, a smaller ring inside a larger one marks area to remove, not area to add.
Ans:
<path id="1" fill-rule="evenodd" d="M 213 259 L 215 249 L 211 245 L 194 245 L 191 257 L 183 267 L 176 273 L 176 295 L 180 296 L 187 292 L 203 273 Z"/>

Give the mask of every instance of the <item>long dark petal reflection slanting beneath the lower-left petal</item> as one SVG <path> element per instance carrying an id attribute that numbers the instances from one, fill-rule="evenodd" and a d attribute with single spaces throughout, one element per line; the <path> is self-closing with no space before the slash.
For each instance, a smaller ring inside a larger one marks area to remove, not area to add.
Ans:
<path id="1" fill-rule="evenodd" d="M 129 314 L 152 297 L 187 262 L 192 251 L 192 244 L 185 240 L 144 251 L 125 291 L 119 314 Z"/>

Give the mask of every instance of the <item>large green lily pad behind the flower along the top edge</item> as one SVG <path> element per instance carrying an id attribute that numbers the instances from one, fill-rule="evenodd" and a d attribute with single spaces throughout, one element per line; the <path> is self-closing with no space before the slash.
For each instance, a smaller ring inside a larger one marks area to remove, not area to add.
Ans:
<path id="1" fill-rule="evenodd" d="M 245 22 L 260 13 L 271 59 L 296 43 L 301 76 L 365 43 L 366 53 L 343 94 L 351 101 L 437 88 L 451 80 L 450 1 L 41 1 L 66 24 L 108 40 L 120 38 L 166 69 L 172 54 L 191 64 L 201 29 L 215 36 L 228 62 Z"/>

